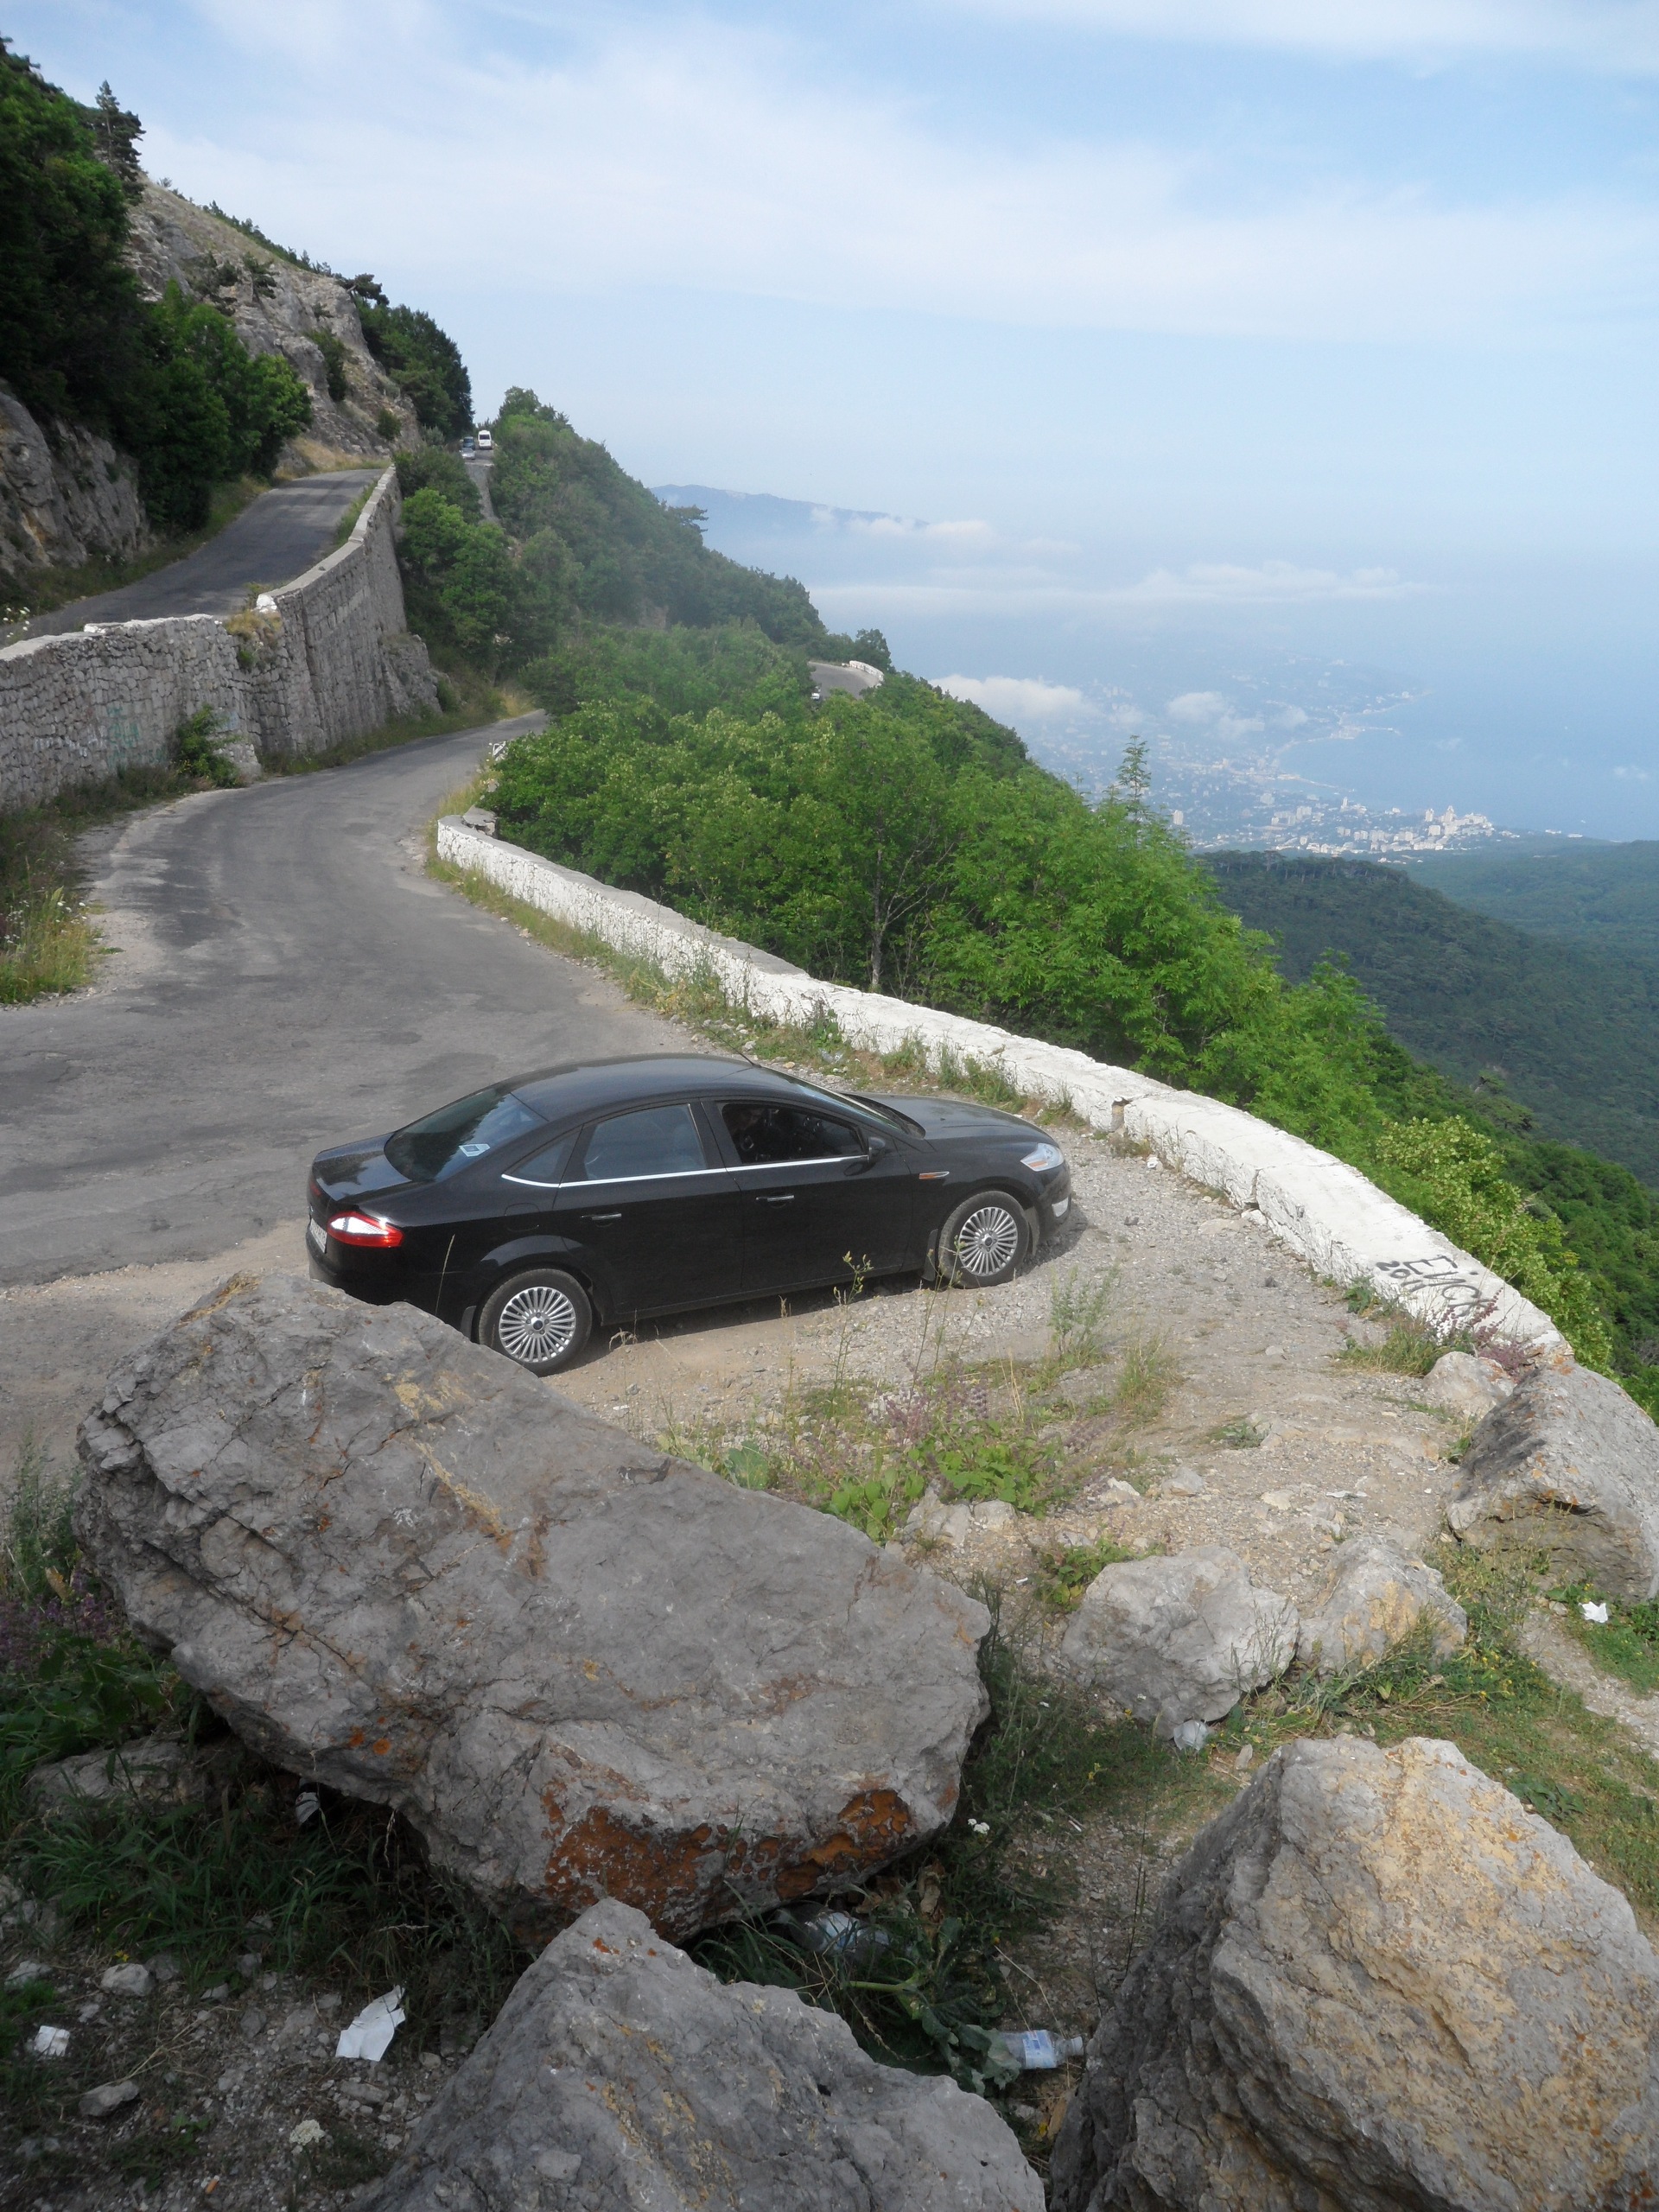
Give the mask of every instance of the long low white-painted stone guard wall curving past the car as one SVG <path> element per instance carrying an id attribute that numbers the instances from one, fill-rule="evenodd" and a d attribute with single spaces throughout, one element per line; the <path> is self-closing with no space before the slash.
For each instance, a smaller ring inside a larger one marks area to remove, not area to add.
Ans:
<path id="1" fill-rule="evenodd" d="M 1345 1285 L 1365 1283 L 1442 1334 L 1478 1329 L 1528 1352 L 1562 1347 L 1548 1314 L 1407 1212 L 1358 1168 L 1239 1106 L 1175 1091 L 1133 1068 L 1018 1037 L 989 1022 L 818 982 L 805 969 L 721 938 L 653 898 L 617 891 L 522 845 L 469 830 L 456 814 L 438 823 L 438 856 L 666 975 L 710 973 L 734 1004 L 754 1015 L 790 1024 L 830 1015 L 847 1044 L 863 1051 L 898 1053 L 911 1046 L 927 1055 L 929 1066 L 938 1066 L 940 1055 L 953 1055 L 958 1064 L 987 1062 L 1026 1097 L 1068 1099 L 1093 1128 L 1130 1137 L 1164 1166 L 1221 1192 L 1316 1274 Z"/>

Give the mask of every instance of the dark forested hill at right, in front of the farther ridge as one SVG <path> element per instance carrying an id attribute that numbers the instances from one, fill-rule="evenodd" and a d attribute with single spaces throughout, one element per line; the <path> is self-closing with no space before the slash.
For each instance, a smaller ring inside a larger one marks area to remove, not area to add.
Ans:
<path id="1" fill-rule="evenodd" d="M 1531 936 L 1376 860 L 1234 852 L 1206 867 L 1223 902 L 1274 938 L 1285 975 L 1345 958 L 1389 1033 L 1482 1088 L 1493 1117 L 1509 1093 L 1524 1099 L 1509 1108 L 1517 1126 L 1659 1188 L 1659 962 Z"/>

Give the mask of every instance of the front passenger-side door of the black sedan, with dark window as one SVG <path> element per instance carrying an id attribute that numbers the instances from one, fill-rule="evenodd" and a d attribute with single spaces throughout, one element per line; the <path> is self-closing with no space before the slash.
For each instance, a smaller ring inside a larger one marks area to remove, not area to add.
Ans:
<path id="1" fill-rule="evenodd" d="M 745 1292 L 905 1265 L 909 1164 L 889 1137 L 772 1099 L 728 1099 L 719 1117 L 743 1194 Z"/>

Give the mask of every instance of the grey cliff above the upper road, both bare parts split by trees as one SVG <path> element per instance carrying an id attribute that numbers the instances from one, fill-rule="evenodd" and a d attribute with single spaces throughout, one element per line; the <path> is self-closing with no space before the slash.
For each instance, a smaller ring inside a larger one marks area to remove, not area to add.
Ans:
<path id="1" fill-rule="evenodd" d="M 396 445 L 418 442 L 414 407 L 376 367 L 338 276 L 270 252 L 161 184 L 144 186 L 131 223 L 128 259 L 146 299 L 179 283 L 192 299 L 215 301 L 250 354 L 283 354 L 310 385 L 310 429 L 283 449 L 279 473 L 385 460 Z M 338 341 L 338 400 L 319 334 Z M 396 429 L 385 436 L 389 420 Z M 148 544 L 133 462 L 106 438 L 35 420 L 0 385 L 0 577 L 27 597 L 31 573 L 131 560 Z"/>

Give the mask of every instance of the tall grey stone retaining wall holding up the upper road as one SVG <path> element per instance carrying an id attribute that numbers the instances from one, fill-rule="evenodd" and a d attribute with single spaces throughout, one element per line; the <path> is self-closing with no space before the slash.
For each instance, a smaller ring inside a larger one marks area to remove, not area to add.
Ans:
<path id="1" fill-rule="evenodd" d="M 257 615 L 232 615 L 234 630 L 212 615 L 168 615 L 4 646 L 0 810 L 164 761 L 204 706 L 265 761 L 431 710 L 427 648 L 405 628 L 396 520 L 387 469 L 345 544 L 261 597 Z"/>

